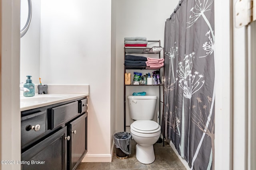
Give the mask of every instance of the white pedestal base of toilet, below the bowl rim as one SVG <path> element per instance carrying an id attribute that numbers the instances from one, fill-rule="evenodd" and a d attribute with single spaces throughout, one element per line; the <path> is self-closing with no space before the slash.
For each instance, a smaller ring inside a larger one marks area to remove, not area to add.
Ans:
<path id="1" fill-rule="evenodd" d="M 149 147 L 142 147 L 141 145 L 136 145 L 136 158 L 142 164 L 151 164 L 155 160 L 155 153 L 153 145 Z"/>

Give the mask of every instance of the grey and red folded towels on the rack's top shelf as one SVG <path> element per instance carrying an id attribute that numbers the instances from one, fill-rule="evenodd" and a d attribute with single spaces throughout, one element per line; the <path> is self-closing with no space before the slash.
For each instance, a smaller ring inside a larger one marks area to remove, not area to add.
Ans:
<path id="1" fill-rule="evenodd" d="M 124 47 L 146 47 L 146 37 L 124 37 Z"/>

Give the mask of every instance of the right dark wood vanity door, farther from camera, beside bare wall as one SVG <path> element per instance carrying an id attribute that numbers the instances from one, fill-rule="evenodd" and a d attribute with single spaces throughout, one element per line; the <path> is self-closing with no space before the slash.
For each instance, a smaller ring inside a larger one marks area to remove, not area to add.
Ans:
<path id="1" fill-rule="evenodd" d="M 84 113 L 84 115 L 68 125 L 68 131 L 70 132 L 70 141 L 68 141 L 68 160 L 70 160 L 70 162 L 68 162 L 68 167 L 71 170 L 78 166 L 87 152 L 86 123 L 87 113 Z"/>

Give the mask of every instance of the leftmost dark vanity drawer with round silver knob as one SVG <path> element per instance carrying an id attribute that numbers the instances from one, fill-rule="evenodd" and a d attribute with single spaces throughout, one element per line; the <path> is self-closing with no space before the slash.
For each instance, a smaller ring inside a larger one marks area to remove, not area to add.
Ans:
<path id="1" fill-rule="evenodd" d="M 46 111 L 21 118 L 21 147 L 38 139 L 46 133 Z"/>

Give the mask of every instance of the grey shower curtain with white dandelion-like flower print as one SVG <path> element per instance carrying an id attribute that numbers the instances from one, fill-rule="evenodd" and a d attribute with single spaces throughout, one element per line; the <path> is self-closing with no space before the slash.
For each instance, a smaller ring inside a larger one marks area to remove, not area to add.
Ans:
<path id="1" fill-rule="evenodd" d="M 162 133 L 191 170 L 214 170 L 214 0 L 181 0 L 166 20 Z"/>

